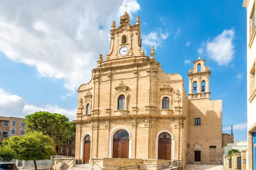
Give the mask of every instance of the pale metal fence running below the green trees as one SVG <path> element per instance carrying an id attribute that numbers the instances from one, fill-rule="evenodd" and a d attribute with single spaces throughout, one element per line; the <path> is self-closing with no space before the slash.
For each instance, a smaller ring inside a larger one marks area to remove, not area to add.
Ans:
<path id="1" fill-rule="evenodd" d="M 37 167 L 53 167 L 54 158 L 74 158 L 74 157 L 73 156 L 56 155 L 56 156 L 52 156 L 52 158 L 50 160 L 35 161 L 36 166 Z M 0 158 L 0 161 L 1 161 L 1 158 Z M 12 159 L 11 162 L 15 163 L 19 169 L 35 167 L 34 161 L 23 161 L 23 160 L 18 160 L 18 159 Z"/>

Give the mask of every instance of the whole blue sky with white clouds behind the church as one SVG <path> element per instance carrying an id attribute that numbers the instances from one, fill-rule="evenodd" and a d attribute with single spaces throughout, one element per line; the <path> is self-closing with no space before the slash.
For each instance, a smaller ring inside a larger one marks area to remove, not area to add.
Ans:
<path id="1" fill-rule="evenodd" d="M 0 116 L 36 111 L 76 119 L 77 89 L 109 51 L 112 21 L 125 2 L 142 48 L 188 93 L 193 61 L 206 59 L 211 100 L 222 99 L 223 132 L 247 140 L 246 8 L 243 0 L 0 0 Z M 210 133 L 210 132 L 209 132 Z"/>

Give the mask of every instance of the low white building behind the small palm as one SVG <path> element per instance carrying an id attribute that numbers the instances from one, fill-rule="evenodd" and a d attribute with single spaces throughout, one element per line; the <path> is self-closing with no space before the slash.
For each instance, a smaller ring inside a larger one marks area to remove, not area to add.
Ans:
<path id="1" fill-rule="evenodd" d="M 227 146 L 222 147 L 222 155 L 223 155 L 223 162 L 224 159 L 227 157 L 227 153 L 230 149 L 239 149 L 246 150 L 247 149 L 247 141 L 234 141 L 233 143 L 228 143 Z"/>

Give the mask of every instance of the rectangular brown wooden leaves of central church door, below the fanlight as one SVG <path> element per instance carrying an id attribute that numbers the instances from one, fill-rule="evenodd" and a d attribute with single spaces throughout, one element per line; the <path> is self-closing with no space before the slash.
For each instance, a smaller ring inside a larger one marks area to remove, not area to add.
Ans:
<path id="1" fill-rule="evenodd" d="M 129 142 L 113 142 L 113 158 L 129 158 Z"/>

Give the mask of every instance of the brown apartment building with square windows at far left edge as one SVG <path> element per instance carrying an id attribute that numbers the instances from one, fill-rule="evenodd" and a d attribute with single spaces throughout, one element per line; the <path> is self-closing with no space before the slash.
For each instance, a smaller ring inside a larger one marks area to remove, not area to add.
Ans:
<path id="1" fill-rule="evenodd" d="M 26 125 L 22 121 L 25 118 L 0 116 L 0 142 L 10 136 L 23 136 Z"/>

